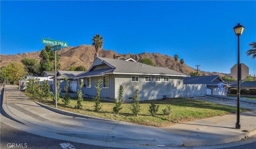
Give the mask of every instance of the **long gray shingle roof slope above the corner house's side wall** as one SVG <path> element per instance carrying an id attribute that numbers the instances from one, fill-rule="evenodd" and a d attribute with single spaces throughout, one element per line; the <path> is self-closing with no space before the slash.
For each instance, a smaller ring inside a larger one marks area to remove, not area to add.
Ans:
<path id="1" fill-rule="evenodd" d="M 99 57 L 102 61 L 112 65 L 116 69 L 113 72 L 118 73 L 149 73 L 149 74 L 170 74 L 170 75 L 183 75 L 189 76 L 188 74 L 180 73 L 164 67 L 154 67 L 146 65 L 140 62 L 124 61 L 122 59 L 109 59 Z"/>

